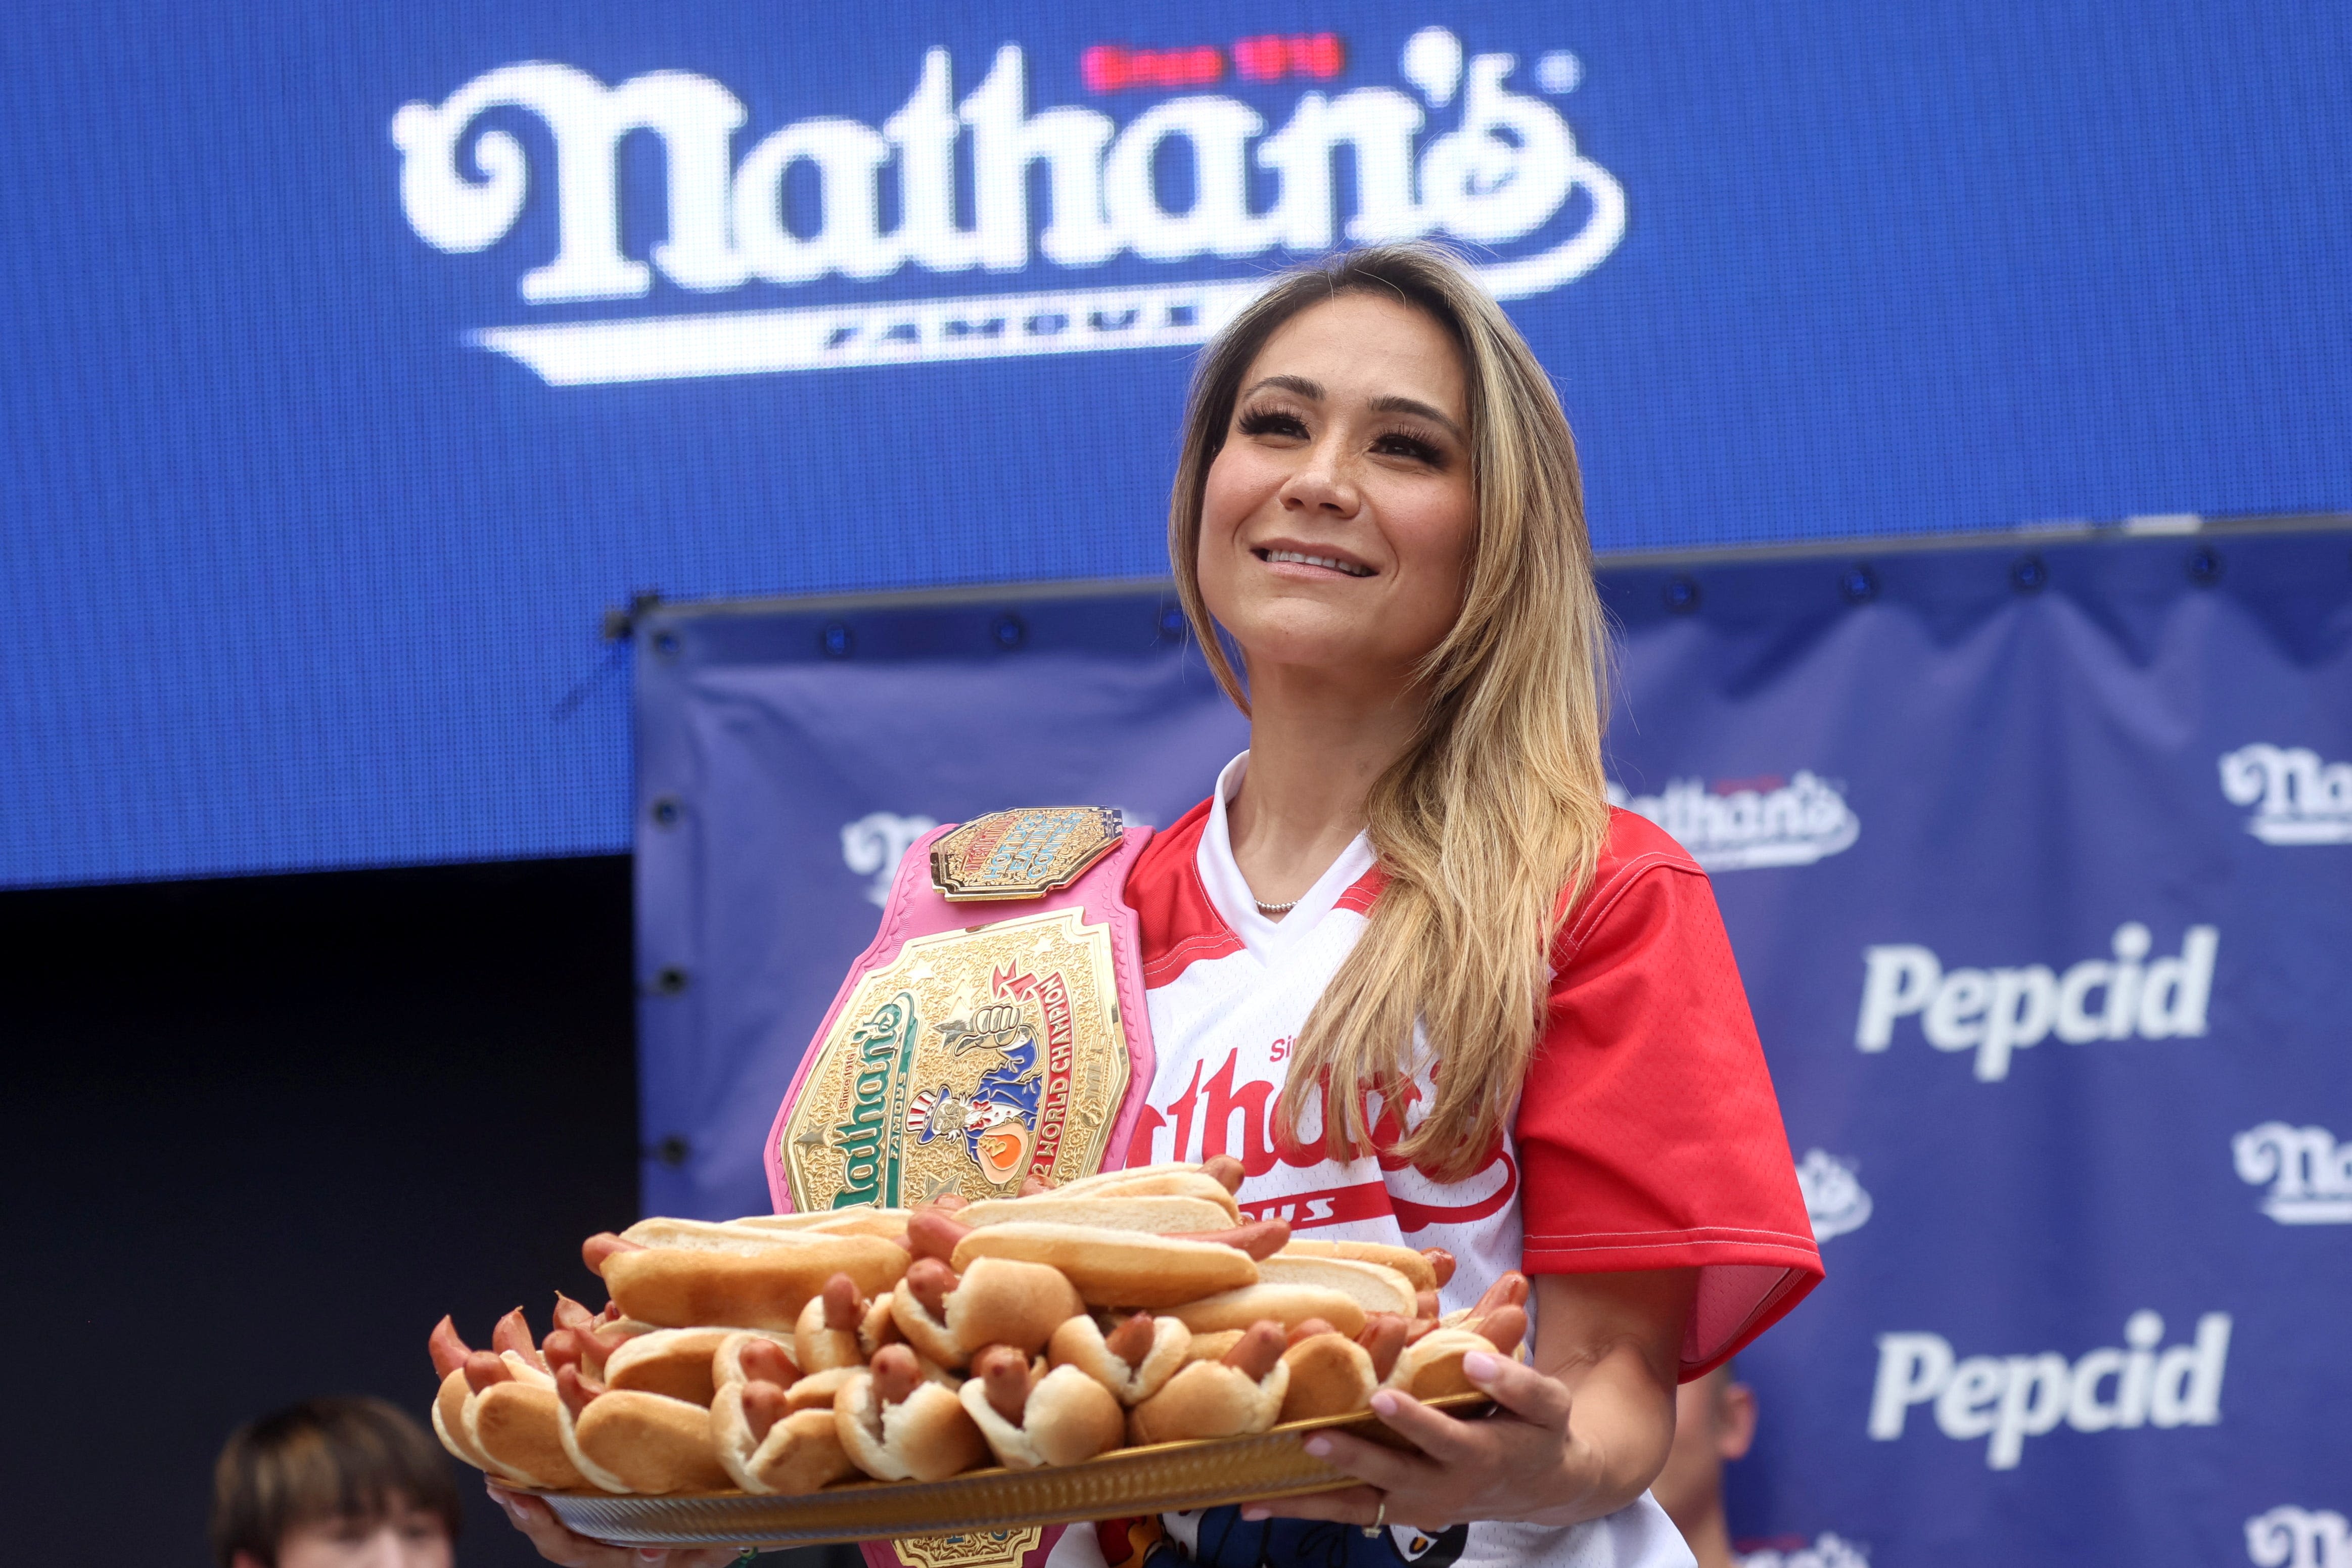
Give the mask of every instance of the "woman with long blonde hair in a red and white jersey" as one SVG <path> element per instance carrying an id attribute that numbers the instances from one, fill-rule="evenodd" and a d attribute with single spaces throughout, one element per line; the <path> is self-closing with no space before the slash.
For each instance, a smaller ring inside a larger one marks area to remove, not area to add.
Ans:
<path id="1" fill-rule="evenodd" d="M 1604 799 L 1543 367 L 1430 247 L 1277 280 L 1195 376 L 1169 557 L 1251 748 L 1127 879 L 1157 1053 L 1127 1164 L 1232 1152 L 1254 1208 L 1446 1246 L 1449 1307 L 1524 1267 L 1534 1363 L 1470 1359 L 1496 1420 L 1376 1396 L 1409 1450 L 1310 1441 L 1359 1486 L 1073 1528 L 1051 1568 L 1689 1563 L 1644 1495 L 1675 1385 L 1820 1258 L 1708 882 Z"/>

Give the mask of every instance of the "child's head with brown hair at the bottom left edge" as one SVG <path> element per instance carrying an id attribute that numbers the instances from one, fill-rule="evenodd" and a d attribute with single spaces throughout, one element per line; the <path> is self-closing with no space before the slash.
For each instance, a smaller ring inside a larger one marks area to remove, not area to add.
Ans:
<path id="1" fill-rule="evenodd" d="M 449 1460 L 381 1399 L 306 1399 L 230 1434 L 212 1467 L 216 1568 L 449 1568 Z"/>

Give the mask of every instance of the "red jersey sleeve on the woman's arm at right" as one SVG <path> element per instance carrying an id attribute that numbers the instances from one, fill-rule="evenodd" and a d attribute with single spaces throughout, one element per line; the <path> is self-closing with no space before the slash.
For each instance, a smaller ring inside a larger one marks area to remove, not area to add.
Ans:
<path id="1" fill-rule="evenodd" d="M 1526 1272 L 1696 1267 L 1682 1347 L 1696 1378 L 1820 1284 L 1708 875 L 1661 827 L 1613 811 L 1552 969 L 1515 1128 Z"/>

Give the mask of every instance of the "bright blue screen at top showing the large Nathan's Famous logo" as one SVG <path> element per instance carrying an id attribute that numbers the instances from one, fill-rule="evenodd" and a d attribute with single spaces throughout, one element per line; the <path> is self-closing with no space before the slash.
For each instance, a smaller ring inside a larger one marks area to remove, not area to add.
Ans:
<path id="1" fill-rule="evenodd" d="M 673 599 L 1164 571 L 1195 346 L 1465 247 L 1602 550 L 2352 508 L 2343 7 L 26 7 L 0 884 L 628 844 Z"/>

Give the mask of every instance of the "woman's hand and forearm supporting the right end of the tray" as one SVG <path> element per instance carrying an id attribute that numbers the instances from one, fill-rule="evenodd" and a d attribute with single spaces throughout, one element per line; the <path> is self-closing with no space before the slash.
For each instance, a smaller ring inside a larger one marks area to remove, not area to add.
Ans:
<path id="1" fill-rule="evenodd" d="M 1463 1356 L 1463 1373 L 1496 1401 L 1496 1415 L 1454 1420 L 1383 1389 L 1371 1413 L 1414 1450 L 1319 1432 L 1305 1450 L 1364 1486 L 1251 1502 L 1242 1519 L 1442 1530 L 1470 1519 L 1571 1526 L 1613 1514 L 1656 1479 L 1675 1441 L 1675 1375 L 1693 1291 L 1693 1269 L 1541 1276 L 1536 1366 Z"/>

